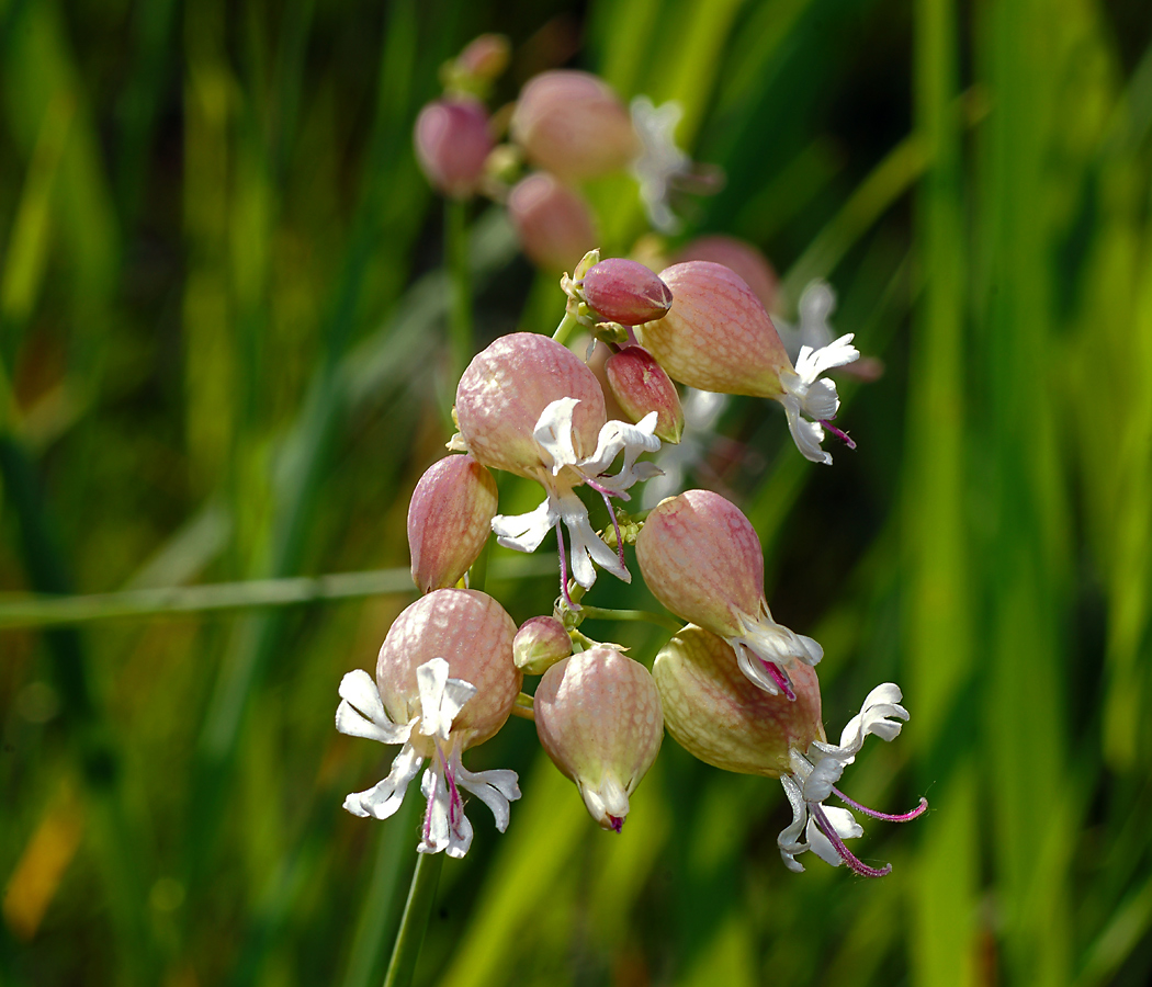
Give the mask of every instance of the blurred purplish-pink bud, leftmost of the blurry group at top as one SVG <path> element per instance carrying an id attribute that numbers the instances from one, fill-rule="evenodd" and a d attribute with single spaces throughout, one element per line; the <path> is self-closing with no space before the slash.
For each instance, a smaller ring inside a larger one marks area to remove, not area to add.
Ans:
<path id="1" fill-rule="evenodd" d="M 416 117 L 416 158 L 432 188 L 452 198 L 471 196 L 492 151 L 488 117 L 473 99 L 430 103 Z"/>

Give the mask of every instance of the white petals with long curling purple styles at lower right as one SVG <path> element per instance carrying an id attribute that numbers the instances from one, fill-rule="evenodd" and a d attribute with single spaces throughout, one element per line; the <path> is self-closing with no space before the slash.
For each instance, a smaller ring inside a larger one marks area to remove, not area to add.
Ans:
<path id="1" fill-rule="evenodd" d="M 900 705 L 900 689 L 893 683 L 878 685 L 864 699 L 861 712 L 848 721 L 839 745 L 813 741 L 806 753 L 790 752 L 793 773 L 783 775 L 780 783 L 791 804 L 793 821 L 776 838 L 780 856 L 789 870 L 804 870 L 796 857 L 805 850 L 811 850 L 834 867 L 848 864 L 855 873 L 865 878 L 882 878 L 892 870 L 890 864 L 879 870 L 869 867 L 844 845 L 844 840 L 863 836 L 864 829 L 847 808 L 826 807 L 824 800 L 835 794 L 865 815 L 892 822 L 907 822 L 927 808 L 927 799 L 922 798 L 916 808 L 901 815 L 877 812 L 852 802 L 835 787 L 869 734 L 885 741 L 899 736 L 901 727 L 908 721 L 908 711 Z"/>

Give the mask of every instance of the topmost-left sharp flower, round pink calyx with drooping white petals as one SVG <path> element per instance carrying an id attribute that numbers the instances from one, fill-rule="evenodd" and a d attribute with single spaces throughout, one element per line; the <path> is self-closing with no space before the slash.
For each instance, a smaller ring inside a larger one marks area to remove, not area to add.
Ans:
<path id="1" fill-rule="evenodd" d="M 547 336 L 514 333 L 469 364 L 456 388 L 456 417 L 462 443 L 478 462 L 544 486 L 546 495 L 536 510 L 495 516 L 492 530 L 501 545 L 535 552 L 555 529 L 561 592 L 569 602 L 561 524 L 568 529 L 571 572 L 579 585 L 589 589 L 596 582 L 593 562 L 631 580 L 622 541 L 617 538 L 619 552 L 605 545 L 575 488 L 585 484 L 599 493 L 616 526 L 609 498 L 629 500 L 629 487 L 655 472 L 651 463 L 637 462 L 660 448 L 653 434 L 655 412 L 636 425 L 608 422 L 600 385 L 575 354 Z M 621 453 L 620 471 L 606 476 Z"/>

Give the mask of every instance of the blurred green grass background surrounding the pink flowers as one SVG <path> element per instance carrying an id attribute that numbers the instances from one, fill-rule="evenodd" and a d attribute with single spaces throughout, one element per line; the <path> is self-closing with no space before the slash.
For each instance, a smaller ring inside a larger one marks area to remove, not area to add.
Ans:
<path id="1" fill-rule="evenodd" d="M 341 811 L 386 752 L 332 718 L 450 434 L 411 131 L 482 31 L 494 108 L 556 66 L 679 100 L 726 183 L 669 248 L 751 241 L 788 318 L 827 279 L 882 360 L 833 468 L 740 398 L 685 485 L 756 524 L 829 734 L 903 688 L 849 792 L 931 811 L 866 826 L 889 878 L 791 874 L 780 787 L 668 739 L 617 837 L 513 720 L 470 766 L 524 798 L 446 863 L 417 982 L 1147 982 L 1146 0 L 0 0 L 0 982 L 380 982 L 420 808 Z M 635 185 L 586 193 L 626 253 Z M 477 346 L 551 332 L 555 276 L 468 219 Z M 488 589 L 523 621 L 553 567 Z M 657 608 L 636 583 L 593 601 Z"/>

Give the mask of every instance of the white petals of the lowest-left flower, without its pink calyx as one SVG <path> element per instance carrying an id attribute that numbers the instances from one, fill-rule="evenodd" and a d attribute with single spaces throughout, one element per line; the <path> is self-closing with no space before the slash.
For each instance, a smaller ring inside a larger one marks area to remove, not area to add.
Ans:
<path id="1" fill-rule="evenodd" d="M 472 825 L 464 815 L 461 789 L 480 799 L 495 818 L 497 829 L 508 828 L 508 804 L 520 798 L 513 770 L 470 772 L 461 762 L 461 738 L 452 732 L 453 721 L 475 694 L 476 686 L 448 677 L 448 662 L 433 658 L 416 669 L 420 712 L 407 723 L 394 723 L 380 700 L 372 677 L 362 669 L 349 671 L 340 683 L 336 729 L 354 737 L 382 744 L 402 744 L 388 776 L 367 789 L 353 792 L 344 808 L 354 815 L 387 819 L 400 808 L 409 783 L 426 758 L 420 791 L 427 799 L 423 840 L 417 850 L 463 857 L 472 843 Z"/>

